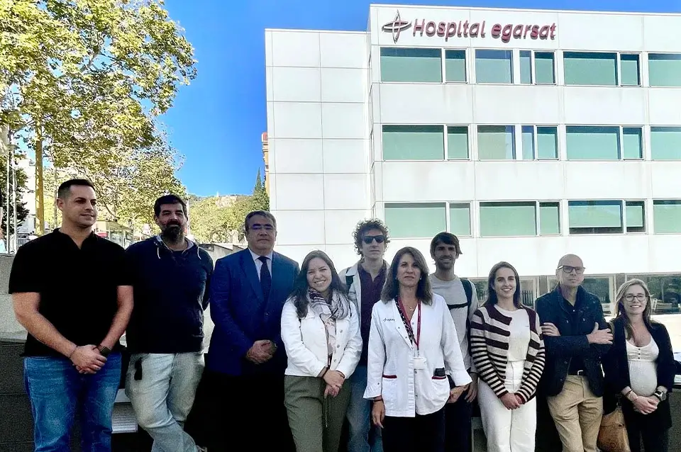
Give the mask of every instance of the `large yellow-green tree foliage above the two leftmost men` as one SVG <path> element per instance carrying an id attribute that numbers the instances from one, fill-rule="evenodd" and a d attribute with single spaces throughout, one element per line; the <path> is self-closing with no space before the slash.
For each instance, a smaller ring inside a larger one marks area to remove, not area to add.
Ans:
<path id="1" fill-rule="evenodd" d="M 57 172 L 91 179 L 111 220 L 183 194 L 157 117 L 194 77 L 161 0 L 0 0 L 0 123 Z"/>

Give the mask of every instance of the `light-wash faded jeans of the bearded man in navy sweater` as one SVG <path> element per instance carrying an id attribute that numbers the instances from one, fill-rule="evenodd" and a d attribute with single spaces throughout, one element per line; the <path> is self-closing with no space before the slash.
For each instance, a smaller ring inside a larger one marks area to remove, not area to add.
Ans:
<path id="1" fill-rule="evenodd" d="M 137 366 L 142 369 L 139 380 L 135 380 Z M 184 431 L 184 421 L 194 405 L 202 373 L 201 352 L 130 357 L 126 395 L 138 424 L 154 440 L 151 452 L 196 452 L 194 439 Z"/>

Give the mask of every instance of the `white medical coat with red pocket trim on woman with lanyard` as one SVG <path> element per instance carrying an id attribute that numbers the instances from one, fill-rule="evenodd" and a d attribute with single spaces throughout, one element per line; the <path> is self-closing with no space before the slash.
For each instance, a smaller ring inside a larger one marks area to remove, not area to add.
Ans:
<path id="1" fill-rule="evenodd" d="M 421 303 L 420 309 L 419 354 L 426 358 L 426 368 L 415 371 L 416 345 L 409 340 L 395 300 L 380 301 L 373 308 L 364 397 L 372 399 L 382 395 L 386 416 L 414 417 L 444 407 L 449 398 L 449 381 L 436 376 L 436 369 L 451 375 L 457 386 L 471 382 L 444 298 L 433 294 L 433 303 Z M 416 310 L 411 317 L 414 336 L 418 318 L 419 310 Z"/>

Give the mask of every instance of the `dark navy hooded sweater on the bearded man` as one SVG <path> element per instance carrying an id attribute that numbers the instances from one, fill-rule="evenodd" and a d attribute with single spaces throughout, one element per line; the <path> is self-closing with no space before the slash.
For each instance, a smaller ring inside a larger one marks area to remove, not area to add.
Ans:
<path id="1" fill-rule="evenodd" d="M 196 244 L 173 252 L 157 237 L 128 247 L 135 307 L 126 330 L 131 353 L 201 351 L 213 259 Z"/>

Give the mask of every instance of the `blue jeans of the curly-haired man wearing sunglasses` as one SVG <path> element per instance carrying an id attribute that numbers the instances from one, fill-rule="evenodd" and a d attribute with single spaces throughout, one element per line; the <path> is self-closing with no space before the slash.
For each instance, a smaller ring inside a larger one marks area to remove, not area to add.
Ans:
<path id="1" fill-rule="evenodd" d="M 371 422 L 372 402 L 364 398 L 367 390 L 367 366 L 357 366 L 350 377 L 350 388 L 352 395 L 347 414 L 348 452 L 383 452 L 381 429 Z M 373 438 L 370 438 L 370 434 Z"/>

